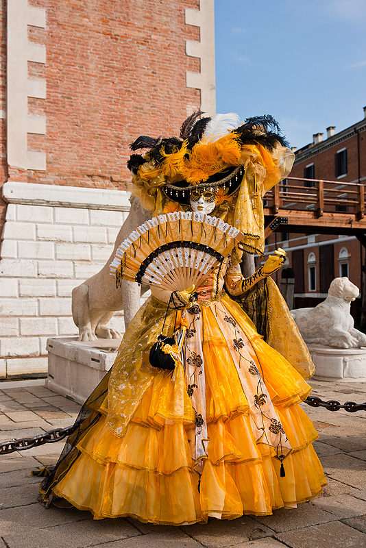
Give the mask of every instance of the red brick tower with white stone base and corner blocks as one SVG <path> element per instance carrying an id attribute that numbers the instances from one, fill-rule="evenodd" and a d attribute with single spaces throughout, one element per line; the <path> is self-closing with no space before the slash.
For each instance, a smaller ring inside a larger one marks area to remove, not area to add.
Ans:
<path id="1" fill-rule="evenodd" d="M 215 114 L 213 0 L 3 0 L 0 378 L 47 370 L 129 208 L 128 145 Z"/>

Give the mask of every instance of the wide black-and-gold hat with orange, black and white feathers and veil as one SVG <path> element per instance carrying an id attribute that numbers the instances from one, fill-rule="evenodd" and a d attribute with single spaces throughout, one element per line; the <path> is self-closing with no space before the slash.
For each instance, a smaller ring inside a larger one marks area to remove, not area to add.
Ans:
<path id="1" fill-rule="evenodd" d="M 217 203 L 230 200 L 230 224 L 247 234 L 243 249 L 263 254 L 263 204 L 261 197 L 288 175 L 293 153 L 272 116 L 256 116 L 241 123 L 238 114 L 216 114 L 201 118 L 193 112 L 180 129 L 180 138 L 138 137 L 127 162 L 132 171 L 129 190 L 142 206 L 156 208 L 162 196 L 178 203 L 189 203 L 193 189 L 210 188 Z"/>

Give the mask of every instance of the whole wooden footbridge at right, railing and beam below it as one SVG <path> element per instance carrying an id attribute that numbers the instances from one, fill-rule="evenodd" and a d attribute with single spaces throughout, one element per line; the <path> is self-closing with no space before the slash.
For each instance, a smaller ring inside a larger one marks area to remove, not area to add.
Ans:
<path id="1" fill-rule="evenodd" d="M 287 177 L 263 198 L 265 238 L 273 232 L 347 234 L 366 243 L 365 186 Z"/>

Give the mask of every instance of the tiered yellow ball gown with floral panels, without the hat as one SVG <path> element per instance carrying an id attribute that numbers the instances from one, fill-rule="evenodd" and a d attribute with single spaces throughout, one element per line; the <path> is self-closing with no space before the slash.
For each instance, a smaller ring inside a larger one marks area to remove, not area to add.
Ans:
<path id="1" fill-rule="evenodd" d="M 317 432 L 299 406 L 310 386 L 228 295 L 240 294 L 241 281 L 224 264 L 195 305 L 169 309 L 164 332 L 185 331 L 173 371 L 149 364 L 169 295 L 153 291 L 42 483 L 44 499 L 62 497 L 95 519 L 184 525 L 271 514 L 319 495 Z M 291 344 L 284 321 L 276 332 Z"/>

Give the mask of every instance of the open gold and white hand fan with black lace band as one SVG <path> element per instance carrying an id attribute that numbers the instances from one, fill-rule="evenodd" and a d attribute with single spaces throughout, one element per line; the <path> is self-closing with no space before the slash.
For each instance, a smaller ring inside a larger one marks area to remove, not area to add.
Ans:
<path id="1" fill-rule="evenodd" d="M 195 212 L 158 215 L 132 231 L 117 248 L 110 274 L 171 291 L 183 291 L 208 275 L 243 234 L 217 217 Z"/>

